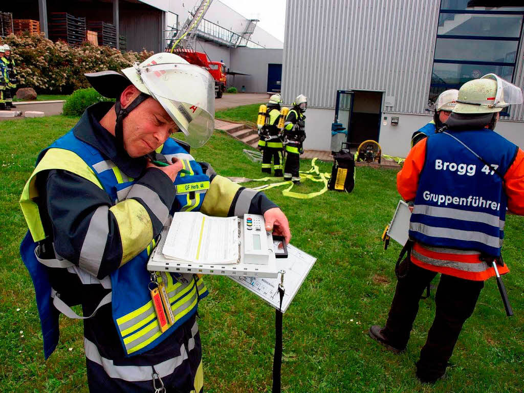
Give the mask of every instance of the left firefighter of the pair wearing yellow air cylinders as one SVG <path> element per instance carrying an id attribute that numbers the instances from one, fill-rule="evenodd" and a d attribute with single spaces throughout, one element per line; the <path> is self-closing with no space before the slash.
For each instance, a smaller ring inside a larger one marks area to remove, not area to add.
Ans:
<path id="1" fill-rule="evenodd" d="M 280 139 L 278 121 L 280 118 L 280 94 L 273 94 L 267 103 L 267 121 L 259 131 L 258 147 L 262 149 L 262 172 L 271 173 L 271 159 L 275 177 L 282 177 L 282 140 Z"/>

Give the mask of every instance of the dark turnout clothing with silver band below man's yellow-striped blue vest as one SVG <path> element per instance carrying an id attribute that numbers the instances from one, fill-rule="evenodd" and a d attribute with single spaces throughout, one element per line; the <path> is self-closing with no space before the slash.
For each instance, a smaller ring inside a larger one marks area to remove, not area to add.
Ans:
<path id="1" fill-rule="evenodd" d="M 151 393 L 155 374 L 156 388 L 163 383 L 167 392 L 201 393 L 202 348 L 195 316 L 178 330 L 152 350 L 123 359 L 104 358 L 93 342 L 84 339 L 89 391 Z"/>

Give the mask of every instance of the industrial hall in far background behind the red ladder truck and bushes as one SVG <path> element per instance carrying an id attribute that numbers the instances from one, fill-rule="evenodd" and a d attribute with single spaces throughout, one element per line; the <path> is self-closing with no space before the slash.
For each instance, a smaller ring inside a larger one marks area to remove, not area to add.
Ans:
<path id="1" fill-rule="evenodd" d="M 14 19 L 39 21 L 48 38 L 53 38 L 49 21 L 54 13 L 68 13 L 85 18 L 88 26 L 92 22 L 116 26 L 116 36 L 123 37 L 127 50 L 162 52 L 200 3 L 201 0 L 17 0 L 5 4 L 2 10 L 12 13 Z M 282 12 L 284 6 L 282 2 Z M 214 0 L 196 33 L 195 49 L 206 52 L 211 61 L 223 61 L 231 72 L 228 87 L 246 92 L 280 91 L 283 42 L 256 26 L 256 21 Z M 120 43 L 121 39 L 116 45 Z"/>

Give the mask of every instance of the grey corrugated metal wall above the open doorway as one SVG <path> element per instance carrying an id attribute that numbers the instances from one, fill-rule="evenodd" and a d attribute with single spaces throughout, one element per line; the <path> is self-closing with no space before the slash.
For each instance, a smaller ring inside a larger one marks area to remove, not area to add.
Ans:
<path id="1" fill-rule="evenodd" d="M 287 0 L 283 99 L 334 107 L 336 90 L 381 90 L 390 112 L 424 114 L 438 0 Z"/>

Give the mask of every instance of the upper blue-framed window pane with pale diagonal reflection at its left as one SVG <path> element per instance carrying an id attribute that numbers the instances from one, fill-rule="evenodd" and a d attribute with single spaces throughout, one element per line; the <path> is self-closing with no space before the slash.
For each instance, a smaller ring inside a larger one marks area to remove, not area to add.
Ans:
<path id="1" fill-rule="evenodd" d="M 521 24 L 522 15 L 440 14 L 436 34 L 518 38 Z"/>

